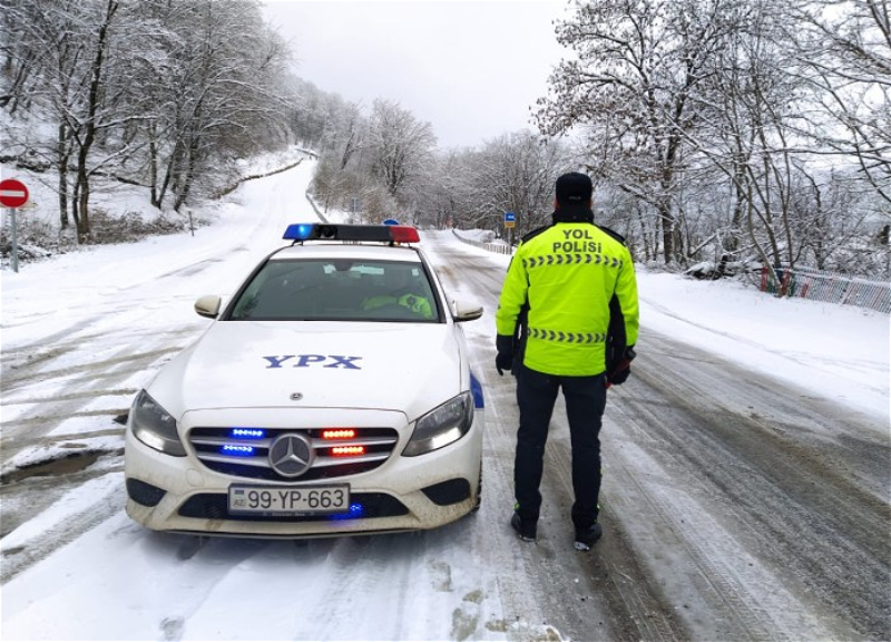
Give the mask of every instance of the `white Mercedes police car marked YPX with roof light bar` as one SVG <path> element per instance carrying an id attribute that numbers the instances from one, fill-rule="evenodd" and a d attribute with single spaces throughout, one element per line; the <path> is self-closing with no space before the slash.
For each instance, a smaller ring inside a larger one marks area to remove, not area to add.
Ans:
<path id="1" fill-rule="evenodd" d="M 479 506 L 483 398 L 418 231 L 291 225 L 129 412 L 127 513 L 155 531 L 428 529 Z"/>

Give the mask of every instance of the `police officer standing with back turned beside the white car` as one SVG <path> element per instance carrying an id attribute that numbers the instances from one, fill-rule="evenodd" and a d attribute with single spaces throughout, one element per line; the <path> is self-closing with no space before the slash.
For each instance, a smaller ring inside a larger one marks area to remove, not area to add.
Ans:
<path id="1" fill-rule="evenodd" d="M 513 370 L 520 409 L 511 526 L 521 539 L 535 541 L 545 442 L 562 391 L 575 547 L 588 551 L 603 534 L 600 424 L 607 388 L 628 378 L 635 356 L 637 281 L 624 239 L 594 224 L 590 178 L 572 172 L 555 187 L 554 223 L 527 234 L 508 268 L 496 313 L 496 368 L 499 374 Z"/>

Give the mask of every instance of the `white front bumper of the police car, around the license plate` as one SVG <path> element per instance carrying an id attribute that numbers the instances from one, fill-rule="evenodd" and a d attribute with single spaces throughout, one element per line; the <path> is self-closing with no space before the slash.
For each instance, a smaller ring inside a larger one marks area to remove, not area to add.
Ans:
<path id="1" fill-rule="evenodd" d="M 268 411 L 264 425 L 286 426 L 280 410 Z M 330 415 L 331 411 L 326 414 Z M 343 515 L 266 517 L 231 515 L 227 493 L 232 484 L 313 486 L 320 481 L 257 481 L 212 470 L 186 444 L 186 457 L 172 457 L 136 439 L 128 428 L 125 440 L 127 514 L 154 531 L 246 537 L 312 537 L 435 528 L 470 513 L 479 499 L 484 412 L 477 408 L 470 430 L 458 441 L 418 457 L 401 453 L 410 437 L 404 416 L 386 415 L 400 438 L 380 467 L 352 476 L 325 479 L 350 485 L 351 504 L 360 507 Z M 237 419 L 237 418 L 236 418 Z M 256 420 L 257 417 L 254 417 Z M 314 418 L 319 425 L 319 418 Z M 199 421 L 199 419 L 197 419 Z M 244 421 L 235 425 L 245 425 Z M 343 425 L 343 424 L 340 424 Z"/>

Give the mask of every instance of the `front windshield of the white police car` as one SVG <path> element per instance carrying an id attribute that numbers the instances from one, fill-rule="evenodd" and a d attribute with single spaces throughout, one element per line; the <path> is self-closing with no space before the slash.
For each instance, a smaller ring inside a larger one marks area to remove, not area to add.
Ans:
<path id="1" fill-rule="evenodd" d="M 242 289 L 228 320 L 439 322 L 421 263 L 268 261 Z"/>

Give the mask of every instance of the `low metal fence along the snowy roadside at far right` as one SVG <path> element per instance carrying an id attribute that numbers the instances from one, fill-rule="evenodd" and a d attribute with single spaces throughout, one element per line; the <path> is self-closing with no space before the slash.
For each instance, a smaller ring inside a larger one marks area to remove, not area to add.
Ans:
<path id="1" fill-rule="evenodd" d="M 891 313 L 891 283 L 842 276 L 810 268 L 763 268 L 761 291 L 776 296 L 797 296 Z"/>

